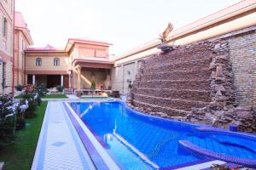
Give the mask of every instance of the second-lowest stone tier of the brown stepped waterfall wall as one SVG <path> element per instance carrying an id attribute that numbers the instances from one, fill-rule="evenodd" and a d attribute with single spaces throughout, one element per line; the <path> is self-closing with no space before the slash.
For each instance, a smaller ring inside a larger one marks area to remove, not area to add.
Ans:
<path id="1" fill-rule="evenodd" d="M 143 94 L 134 94 L 134 99 L 151 105 L 159 105 L 161 107 L 169 107 L 183 111 L 191 111 L 192 107 L 202 108 L 208 104 L 208 102 L 193 101 L 188 99 L 160 98 Z"/>

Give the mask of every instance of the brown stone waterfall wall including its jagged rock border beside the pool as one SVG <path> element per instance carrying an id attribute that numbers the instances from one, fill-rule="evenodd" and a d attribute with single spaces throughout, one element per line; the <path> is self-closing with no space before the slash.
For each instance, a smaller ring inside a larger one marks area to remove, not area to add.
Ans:
<path id="1" fill-rule="evenodd" d="M 178 46 L 144 59 L 127 102 L 151 115 L 256 130 L 253 110 L 237 107 L 229 43 L 224 40 Z"/>

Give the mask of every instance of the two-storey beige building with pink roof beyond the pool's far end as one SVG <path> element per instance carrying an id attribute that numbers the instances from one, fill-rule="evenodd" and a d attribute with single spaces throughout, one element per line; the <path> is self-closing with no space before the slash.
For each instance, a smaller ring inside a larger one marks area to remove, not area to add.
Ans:
<path id="1" fill-rule="evenodd" d="M 26 84 L 44 84 L 47 88 L 57 85 L 80 91 L 90 88 L 110 89 L 110 43 L 70 38 L 65 49 L 51 46 L 26 48 Z"/>

